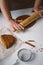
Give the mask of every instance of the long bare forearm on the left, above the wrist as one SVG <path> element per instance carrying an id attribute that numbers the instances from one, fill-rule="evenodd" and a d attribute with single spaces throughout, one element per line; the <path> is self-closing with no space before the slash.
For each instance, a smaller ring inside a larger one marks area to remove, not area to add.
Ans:
<path id="1" fill-rule="evenodd" d="M 0 8 L 5 19 L 9 21 L 12 17 L 8 8 L 7 0 L 0 0 Z"/>

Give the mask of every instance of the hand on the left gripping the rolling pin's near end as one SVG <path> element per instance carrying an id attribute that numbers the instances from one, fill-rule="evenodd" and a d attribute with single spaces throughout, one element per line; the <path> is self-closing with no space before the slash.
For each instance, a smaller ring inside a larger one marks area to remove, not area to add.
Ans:
<path id="1" fill-rule="evenodd" d="M 10 29 L 13 30 L 13 31 L 15 31 L 15 30 L 22 31 L 22 30 L 24 30 L 24 28 L 20 24 L 17 23 L 17 20 L 11 19 L 9 21 L 9 25 L 10 25 Z"/>

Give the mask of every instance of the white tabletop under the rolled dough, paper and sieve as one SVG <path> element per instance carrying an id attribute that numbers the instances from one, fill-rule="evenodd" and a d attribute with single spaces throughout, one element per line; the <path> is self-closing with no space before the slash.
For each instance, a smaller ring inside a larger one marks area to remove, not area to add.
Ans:
<path id="1" fill-rule="evenodd" d="M 21 9 L 11 12 L 12 17 L 16 18 L 17 16 L 24 14 L 32 14 L 32 9 Z M 0 24 L 8 27 L 6 20 L 3 15 L 0 13 Z M 36 49 L 43 48 L 43 18 L 37 20 L 37 22 L 25 32 L 14 32 L 14 34 L 20 38 L 22 41 L 35 40 Z M 36 54 L 36 57 L 33 61 L 25 65 L 43 65 L 43 52 L 36 52 L 36 49 L 32 49 L 28 45 L 23 44 L 21 48 L 29 48 Z M 11 56 L 7 57 L 4 61 L 0 61 L 0 65 L 12 65 L 16 61 L 16 52 Z M 23 64 L 22 64 L 23 65 Z"/>

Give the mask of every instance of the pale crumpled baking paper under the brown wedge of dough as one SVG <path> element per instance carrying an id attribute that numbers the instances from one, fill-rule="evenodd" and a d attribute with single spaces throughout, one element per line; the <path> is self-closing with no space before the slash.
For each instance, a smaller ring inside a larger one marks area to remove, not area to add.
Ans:
<path id="1" fill-rule="evenodd" d="M 8 28 L 0 27 L 0 35 L 9 34 L 14 36 Z M 14 36 L 16 38 L 16 36 Z M 6 49 L 0 42 L 0 60 L 14 53 L 21 46 L 21 40 L 16 38 L 16 42 L 9 48 Z"/>

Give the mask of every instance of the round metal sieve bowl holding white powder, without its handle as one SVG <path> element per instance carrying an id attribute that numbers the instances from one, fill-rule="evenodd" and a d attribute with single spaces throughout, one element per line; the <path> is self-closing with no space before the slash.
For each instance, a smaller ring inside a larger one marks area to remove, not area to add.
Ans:
<path id="1" fill-rule="evenodd" d="M 29 49 L 23 48 L 18 51 L 17 56 L 21 61 L 27 62 L 31 58 L 32 52 Z"/>

